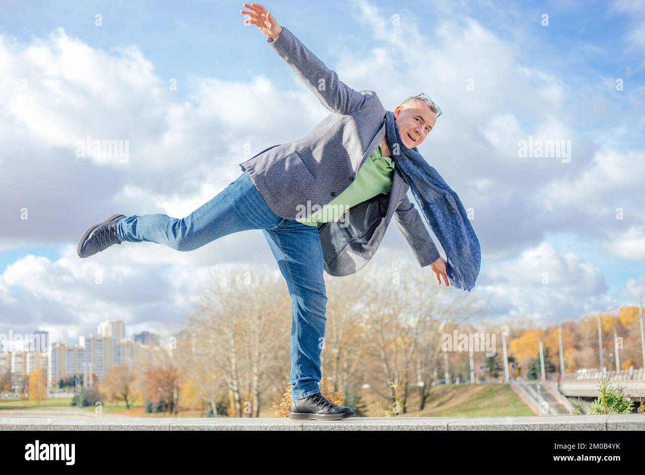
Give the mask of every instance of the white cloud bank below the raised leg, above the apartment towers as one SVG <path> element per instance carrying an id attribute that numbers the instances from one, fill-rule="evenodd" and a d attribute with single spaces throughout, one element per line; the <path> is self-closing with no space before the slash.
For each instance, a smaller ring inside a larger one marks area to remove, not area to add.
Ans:
<path id="1" fill-rule="evenodd" d="M 97 322 L 110 318 L 125 321 L 128 335 L 163 331 L 194 309 L 197 290 L 211 275 L 249 270 L 248 266 L 222 267 L 207 260 L 172 262 L 170 253 L 164 261 L 159 259 L 161 246 L 150 245 L 142 252 L 143 243 L 126 244 L 90 259 L 79 259 L 75 247 L 68 246 L 54 261 L 34 255 L 16 260 L 0 274 L 3 328 L 8 326 L 14 333 L 44 328 L 52 341 L 70 342 L 95 332 Z M 199 259 L 199 253 L 166 250 Z M 272 259 L 268 246 L 266 256 Z M 255 262 L 250 271 L 259 268 L 261 262 Z"/>

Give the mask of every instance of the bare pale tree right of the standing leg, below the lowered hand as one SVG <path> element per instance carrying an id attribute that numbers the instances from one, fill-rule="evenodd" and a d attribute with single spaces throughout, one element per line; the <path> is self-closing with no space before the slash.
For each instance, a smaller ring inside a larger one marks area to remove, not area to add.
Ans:
<path id="1" fill-rule="evenodd" d="M 445 293 L 444 286 L 430 285 L 433 276 L 426 273 L 428 269 L 404 259 L 401 251 L 387 259 L 385 265 L 362 273 L 366 335 L 374 350 L 367 355 L 371 364 L 361 363 L 373 392 L 395 404 L 394 387 L 406 401 L 412 388 L 419 393 L 422 410 L 430 397 L 437 359 L 443 357 L 442 335 L 477 313 L 478 302 L 463 292 Z M 385 393 L 381 388 L 389 389 Z M 407 412 L 405 406 L 402 411 Z"/>

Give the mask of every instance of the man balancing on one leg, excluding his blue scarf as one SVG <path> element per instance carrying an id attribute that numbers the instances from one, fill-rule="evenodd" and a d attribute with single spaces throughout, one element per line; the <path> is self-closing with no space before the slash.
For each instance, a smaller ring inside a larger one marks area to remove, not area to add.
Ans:
<path id="1" fill-rule="evenodd" d="M 385 138 L 385 109 L 375 92 L 351 89 L 270 12 L 244 3 L 252 23 L 332 114 L 295 142 L 273 145 L 240 164 L 243 173 L 183 219 L 114 215 L 81 238 L 80 257 L 128 242 L 157 242 L 179 251 L 219 237 L 262 229 L 292 297 L 292 419 L 344 419 L 351 408 L 321 394 L 320 355 L 326 326 L 324 273 L 350 275 L 381 242 L 392 217 L 419 266 L 446 286 L 446 262 L 407 197 Z M 394 111 L 401 140 L 416 147 L 440 109 L 413 96 Z"/>

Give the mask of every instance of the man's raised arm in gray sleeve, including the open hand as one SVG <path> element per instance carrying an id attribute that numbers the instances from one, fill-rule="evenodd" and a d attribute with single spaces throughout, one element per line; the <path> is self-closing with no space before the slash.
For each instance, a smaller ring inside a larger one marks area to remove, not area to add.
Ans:
<path id="1" fill-rule="evenodd" d="M 253 23 L 268 36 L 267 43 L 295 71 L 324 107 L 337 114 L 351 114 L 361 109 L 366 99 L 362 92 L 343 83 L 336 72 L 328 69 L 290 30 L 278 25 L 264 6 L 259 3 L 243 5 L 251 10 L 240 10 L 241 14 L 250 16 L 244 23 Z"/>

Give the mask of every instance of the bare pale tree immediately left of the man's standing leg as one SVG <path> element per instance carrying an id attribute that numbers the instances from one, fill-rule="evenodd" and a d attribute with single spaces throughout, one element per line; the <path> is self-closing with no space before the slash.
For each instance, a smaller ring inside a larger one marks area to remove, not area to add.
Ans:
<path id="1" fill-rule="evenodd" d="M 286 282 L 274 269 L 213 275 L 177 342 L 192 400 L 219 414 L 217 401 L 226 396 L 232 416 L 259 417 L 264 392 L 288 380 L 291 309 Z"/>

